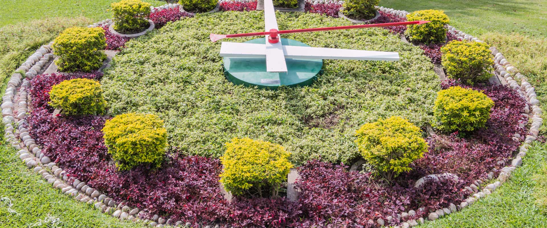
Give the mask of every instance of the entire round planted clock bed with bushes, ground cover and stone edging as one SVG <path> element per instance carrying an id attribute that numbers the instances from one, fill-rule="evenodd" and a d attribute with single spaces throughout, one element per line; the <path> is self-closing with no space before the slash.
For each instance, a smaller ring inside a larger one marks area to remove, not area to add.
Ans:
<path id="1" fill-rule="evenodd" d="M 5 126 L 7 141 L 63 193 L 154 226 L 405 227 L 503 188 L 538 138 L 533 88 L 524 79 L 519 94 L 515 68 L 448 30 L 442 11 L 401 18 L 382 9 L 371 21 L 432 21 L 420 26 L 286 34 L 311 46 L 397 51 L 401 60 L 324 60 L 312 85 L 269 90 L 227 81 L 220 43 L 207 39 L 263 30 L 264 13 L 219 5 L 226 11 L 193 16 L 122 1 L 112 5 L 116 26 L 63 31 L 38 52 L 53 48 L 65 74 L 40 74 L 37 57 L 16 72 L 27 77 L 20 92 L 10 79 L 2 108 L 18 98 L 10 107 L 19 112 L 3 110 L 4 122 L 17 122 Z M 283 29 L 350 25 L 331 18 L 339 6 L 307 3 L 311 13 L 276 17 Z M 136 20 L 122 22 L 128 10 Z M 148 18 L 152 32 L 119 35 L 144 31 Z M 105 49 L 120 52 L 103 74 Z M 494 70 L 508 85 L 488 81 Z"/>

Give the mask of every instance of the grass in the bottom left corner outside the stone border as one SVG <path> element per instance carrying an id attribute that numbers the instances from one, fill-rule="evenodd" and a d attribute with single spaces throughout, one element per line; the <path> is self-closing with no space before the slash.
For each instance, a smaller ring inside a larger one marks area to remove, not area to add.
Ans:
<path id="1" fill-rule="evenodd" d="M 62 194 L 42 175 L 28 169 L 18 155 L 8 145 L 0 144 L 0 227 L 150 227 L 144 223 L 114 218 L 94 209 L 92 204 Z"/>

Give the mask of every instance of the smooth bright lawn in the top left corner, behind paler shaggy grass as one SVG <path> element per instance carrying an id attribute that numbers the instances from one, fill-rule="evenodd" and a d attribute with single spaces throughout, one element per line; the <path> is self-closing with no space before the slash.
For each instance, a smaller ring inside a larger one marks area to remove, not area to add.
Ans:
<path id="1" fill-rule="evenodd" d="M 4 0 L 0 8 L 0 27 L 45 17 L 85 16 L 100 21 L 110 18 L 110 3 L 118 0 Z M 143 0 L 157 7 L 165 1 Z M 32 23 L 30 23 L 32 25 Z"/>

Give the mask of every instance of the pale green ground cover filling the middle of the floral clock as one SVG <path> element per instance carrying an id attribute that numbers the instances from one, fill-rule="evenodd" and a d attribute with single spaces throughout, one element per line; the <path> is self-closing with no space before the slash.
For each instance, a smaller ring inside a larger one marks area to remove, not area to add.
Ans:
<path id="1" fill-rule="evenodd" d="M 351 25 L 318 14 L 276 16 L 281 29 Z M 325 60 L 324 74 L 307 87 L 272 91 L 230 83 L 221 72 L 220 43 L 209 34 L 261 31 L 263 18 L 261 11 L 201 15 L 130 40 L 101 81 L 109 112 L 159 115 L 169 144 L 188 155 L 222 156 L 224 142 L 249 137 L 282 145 L 295 164 L 358 157 L 353 135 L 365 122 L 392 115 L 418 126 L 433 120 L 440 89 L 433 65 L 420 48 L 382 28 L 284 37 L 310 46 L 398 51 L 400 61 Z"/>

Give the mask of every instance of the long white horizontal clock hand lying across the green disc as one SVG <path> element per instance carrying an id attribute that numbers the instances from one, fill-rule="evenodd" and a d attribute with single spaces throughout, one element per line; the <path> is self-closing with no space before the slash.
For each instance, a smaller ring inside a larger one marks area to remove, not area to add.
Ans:
<path id="1" fill-rule="evenodd" d="M 365 51 L 337 48 L 312 48 L 309 46 L 283 45 L 283 55 L 289 59 L 320 59 L 320 60 L 383 60 L 397 61 L 399 53 L 389 51 Z M 220 56 L 265 58 L 267 55 L 264 44 L 248 44 L 222 42 Z"/>

